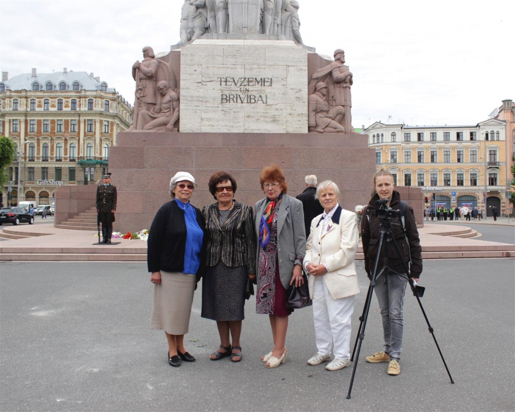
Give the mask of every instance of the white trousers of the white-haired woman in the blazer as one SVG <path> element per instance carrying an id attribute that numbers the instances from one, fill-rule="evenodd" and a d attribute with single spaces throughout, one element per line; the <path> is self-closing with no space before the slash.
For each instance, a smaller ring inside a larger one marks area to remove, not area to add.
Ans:
<path id="1" fill-rule="evenodd" d="M 333 354 L 337 358 L 349 359 L 351 340 L 351 317 L 354 311 L 354 295 L 333 299 L 323 276 L 315 277 L 313 285 L 313 320 L 318 353 Z"/>

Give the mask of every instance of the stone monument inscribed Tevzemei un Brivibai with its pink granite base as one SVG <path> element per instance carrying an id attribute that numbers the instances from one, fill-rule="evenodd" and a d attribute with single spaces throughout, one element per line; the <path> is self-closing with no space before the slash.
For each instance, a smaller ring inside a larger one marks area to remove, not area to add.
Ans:
<path id="1" fill-rule="evenodd" d="M 197 207 L 213 202 L 208 181 L 219 170 L 235 177 L 236 199 L 252 206 L 271 163 L 294 196 L 304 176 L 316 174 L 339 185 L 342 207 L 368 202 L 375 152 L 352 126 L 353 74 L 344 50 L 328 60 L 303 44 L 301 10 L 296 0 L 184 0 L 180 41 L 166 54 L 142 48 L 132 65 L 132 127 L 110 151 L 115 230 L 148 228 L 179 170 L 197 180 Z M 87 191 L 59 189 L 56 224 L 87 208 Z"/>

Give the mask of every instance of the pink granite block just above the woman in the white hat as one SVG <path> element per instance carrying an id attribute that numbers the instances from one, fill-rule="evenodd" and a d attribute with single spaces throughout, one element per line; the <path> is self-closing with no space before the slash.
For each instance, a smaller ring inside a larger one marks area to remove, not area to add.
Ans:
<path id="1" fill-rule="evenodd" d="M 194 148 L 184 146 L 146 147 L 145 167 L 147 169 L 175 169 L 177 171 L 185 168 L 191 169 L 194 167 Z"/>

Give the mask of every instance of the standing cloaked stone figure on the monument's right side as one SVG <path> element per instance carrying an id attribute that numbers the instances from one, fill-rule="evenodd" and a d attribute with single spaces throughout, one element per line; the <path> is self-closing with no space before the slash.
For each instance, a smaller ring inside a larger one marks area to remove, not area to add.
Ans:
<path id="1" fill-rule="evenodd" d="M 334 61 L 327 66 L 318 69 L 312 76 L 310 86 L 318 81 L 323 81 L 328 86 L 327 101 L 330 106 L 342 106 L 345 108 L 345 117 L 342 125 L 345 133 L 353 133 L 351 117 L 351 86 L 353 84 L 352 73 L 345 64 L 345 52 L 338 48 L 334 52 Z M 312 87 L 309 87 L 312 90 Z"/>

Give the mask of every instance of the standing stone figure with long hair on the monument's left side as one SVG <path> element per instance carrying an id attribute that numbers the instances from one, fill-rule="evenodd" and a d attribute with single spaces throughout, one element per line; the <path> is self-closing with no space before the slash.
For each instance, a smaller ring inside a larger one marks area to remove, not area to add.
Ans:
<path id="1" fill-rule="evenodd" d="M 169 87 L 176 90 L 177 81 L 169 65 L 156 59 L 152 47 L 143 47 L 143 61 L 132 65 L 132 78 L 136 81 L 132 126 L 128 131 L 138 130 L 138 117 L 143 110 L 161 109 L 161 94 L 158 93 L 157 83 L 166 80 Z"/>

